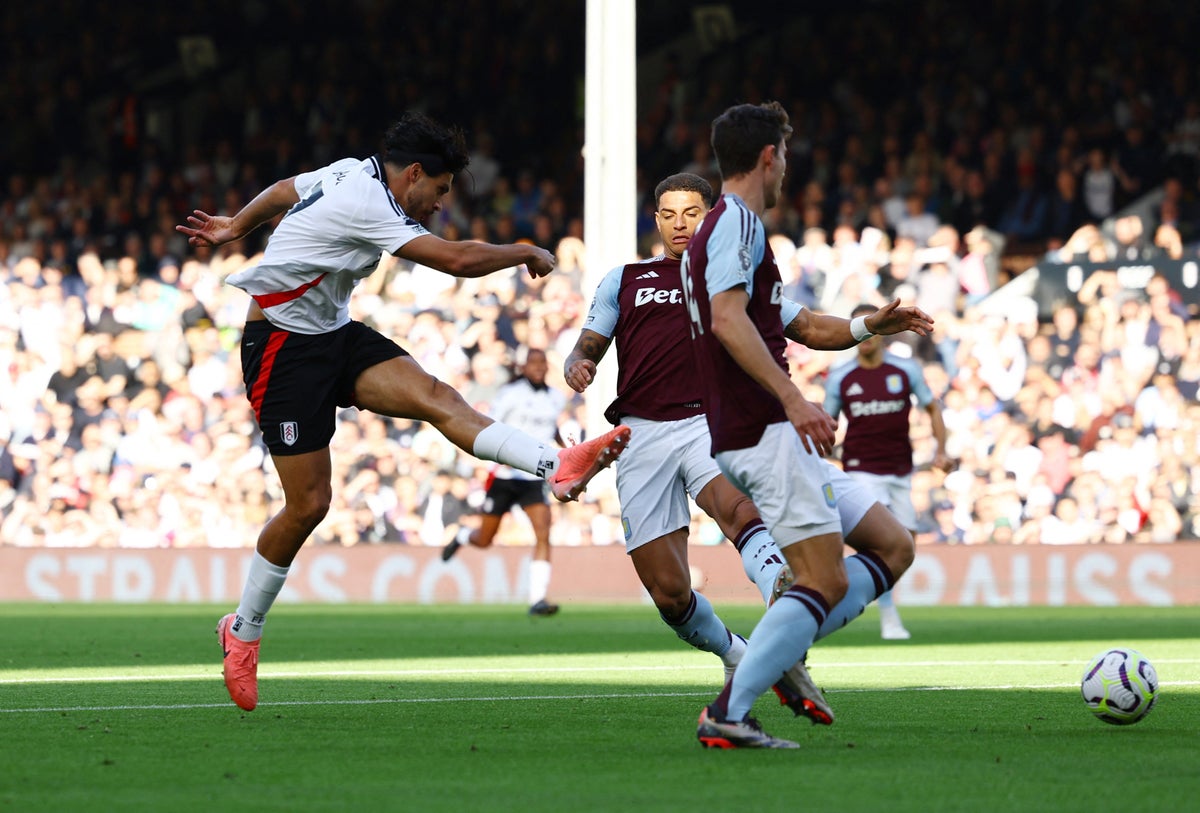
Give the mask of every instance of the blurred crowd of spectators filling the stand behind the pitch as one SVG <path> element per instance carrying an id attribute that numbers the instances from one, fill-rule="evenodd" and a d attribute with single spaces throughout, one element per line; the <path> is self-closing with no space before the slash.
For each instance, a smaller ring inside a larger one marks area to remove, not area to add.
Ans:
<path id="1" fill-rule="evenodd" d="M 326 38 L 312 19 L 260 19 L 258 6 L 233 4 L 244 31 L 211 36 L 238 58 L 218 59 L 208 82 L 178 79 L 172 103 L 114 90 L 126 85 L 92 64 L 85 19 L 65 24 L 59 50 L 11 49 L 10 65 L 40 71 L 0 90 L 7 109 L 37 110 L 0 151 L 0 543 L 253 546 L 282 502 L 241 385 L 246 299 L 222 281 L 256 261 L 269 229 L 209 252 L 188 248 L 174 225 L 192 209 L 232 213 L 277 177 L 368 155 L 386 124 L 377 116 L 406 107 L 462 121 L 473 149 L 430 228 L 530 240 L 556 251 L 559 269 L 540 281 L 516 269 L 456 281 L 385 258 L 356 293 L 355 318 L 484 411 L 523 347 L 547 350 L 551 385 L 566 391 L 562 360 L 588 305 L 575 84 L 583 16 L 556 18 L 558 6 L 533 1 L 458 5 L 469 22 L 434 23 L 401 54 L 383 40 L 390 29 L 371 24 L 385 22 L 385 4 L 361 4 L 362 19 L 341 18 L 344 36 Z M 918 541 L 1200 536 L 1200 303 L 1160 273 L 1128 287 L 1115 271 L 1198 258 L 1200 94 L 1171 32 L 1200 12 L 1172 8 L 1186 20 L 1165 25 L 1153 8 L 1116 13 L 1123 4 L 1056 6 L 1078 12 L 1069 22 L 1034 13 L 1039 4 L 1025 14 L 876 5 L 750 26 L 748 47 L 721 54 L 664 52 L 638 118 L 640 252 L 655 252 L 650 191 L 662 175 L 715 177 L 713 115 L 732 101 L 784 101 L 797 133 L 768 229 L 786 293 L 839 315 L 899 296 L 937 321 L 932 337 L 893 344 L 924 363 L 959 462 L 950 474 L 931 469 L 930 429 L 914 412 Z M 49 25 L 53 6 L 8 8 L 5 30 L 19 16 Z M 539 47 L 492 36 L 516 11 Z M 894 25 L 901 13 L 911 38 Z M 169 14 L 109 17 L 96 30 L 139 54 L 139 71 L 175 59 L 138 47 L 170 41 Z M 265 26 L 296 37 L 286 49 L 245 48 Z M 570 34 L 534 36 L 551 29 Z M 1151 35 L 1156 48 L 1139 48 Z M 452 56 L 428 44 L 438 37 L 454 38 Z M 804 54 L 803 66 L 781 70 L 796 64 L 788 54 Z M 469 112 L 431 88 L 461 91 Z M 38 103 L 22 107 L 34 94 Z M 534 119 L 514 98 L 551 109 Z M 562 126 L 544 132 L 547 120 Z M 996 293 L 1028 255 L 1096 270 L 1046 318 L 1044 303 Z M 838 360 L 790 348 L 814 401 Z M 576 397 L 563 434 L 586 429 Z M 487 478 L 486 464 L 428 427 L 353 409 L 332 457 L 335 502 L 316 532 L 328 544 L 442 546 L 472 522 Z M 697 518 L 694 530 L 697 542 L 720 542 L 712 523 Z M 552 534 L 556 544 L 619 543 L 612 489 L 599 481 L 557 506 Z M 499 538 L 529 540 L 520 514 Z"/>

